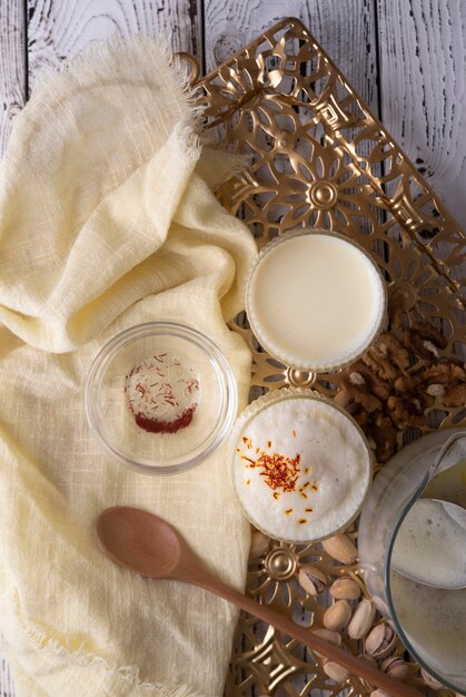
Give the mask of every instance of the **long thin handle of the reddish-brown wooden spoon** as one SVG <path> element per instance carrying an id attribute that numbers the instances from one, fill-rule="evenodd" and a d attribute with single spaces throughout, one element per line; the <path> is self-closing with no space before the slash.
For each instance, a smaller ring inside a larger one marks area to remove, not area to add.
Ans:
<path id="1" fill-rule="evenodd" d="M 246 612 L 264 620 L 268 625 L 272 625 L 276 629 L 284 631 L 289 637 L 298 639 L 311 650 L 316 651 L 316 654 L 320 654 L 321 656 L 338 662 L 340 666 L 347 668 L 353 675 L 365 678 L 370 685 L 386 690 L 391 695 L 391 697 L 422 697 L 418 690 L 388 676 L 386 673 L 378 670 L 378 668 L 374 667 L 368 661 L 361 660 L 360 658 L 344 651 L 338 646 L 335 646 L 329 641 L 325 641 L 320 637 L 314 635 L 307 627 L 296 625 L 285 615 L 277 612 L 266 605 L 256 602 L 251 598 L 236 591 L 210 575 L 202 575 L 200 578 L 191 580 L 191 582 L 219 596 L 220 598 L 224 598 L 225 600 L 228 600 L 232 605 L 238 606 Z"/>

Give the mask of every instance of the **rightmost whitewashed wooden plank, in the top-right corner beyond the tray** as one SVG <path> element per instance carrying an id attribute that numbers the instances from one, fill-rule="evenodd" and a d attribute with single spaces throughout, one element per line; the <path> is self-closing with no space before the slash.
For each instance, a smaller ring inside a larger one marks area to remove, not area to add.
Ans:
<path id="1" fill-rule="evenodd" d="M 378 0 L 381 119 L 466 220 L 466 3 Z"/>

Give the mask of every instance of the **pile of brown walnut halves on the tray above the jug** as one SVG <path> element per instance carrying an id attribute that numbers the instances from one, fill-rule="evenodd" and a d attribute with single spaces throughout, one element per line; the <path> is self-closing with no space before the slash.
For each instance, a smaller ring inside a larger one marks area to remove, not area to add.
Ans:
<path id="1" fill-rule="evenodd" d="M 366 433 L 378 462 L 396 452 L 398 434 L 426 429 L 427 412 L 466 405 L 466 366 L 442 357 L 445 336 L 427 322 L 414 322 L 400 340 L 388 332 L 343 372 L 335 401 Z"/>

